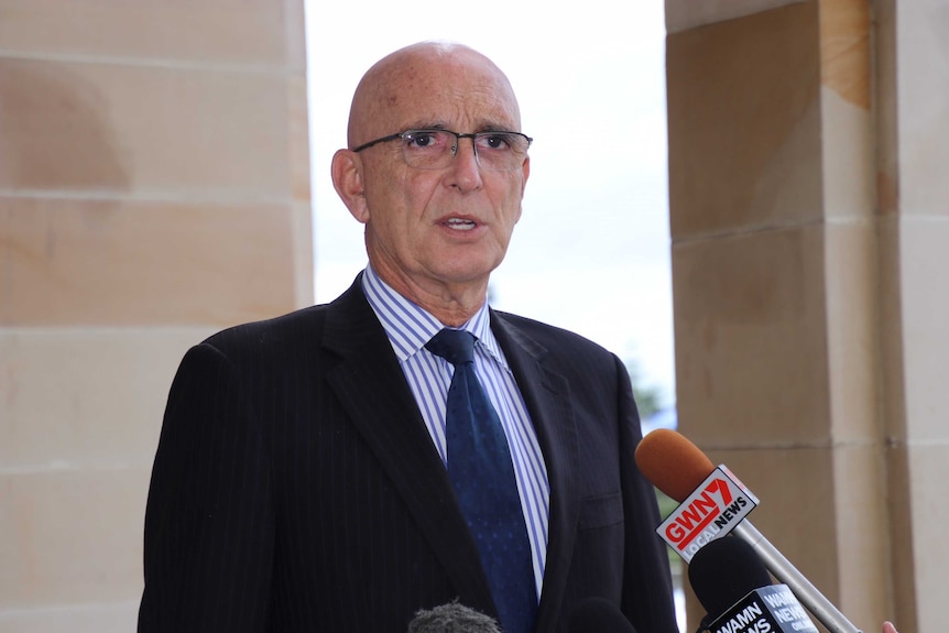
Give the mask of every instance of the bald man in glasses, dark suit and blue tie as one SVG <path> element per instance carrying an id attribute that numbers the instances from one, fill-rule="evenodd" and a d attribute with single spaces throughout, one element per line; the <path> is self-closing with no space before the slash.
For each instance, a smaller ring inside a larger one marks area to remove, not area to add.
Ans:
<path id="1" fill-rule="evenodd" d="M 457 601 L 505 633 L 564 632 L 590 597 L 642 633 L 677 630 L 623 364 L 486 305 L 530 142 L 506 77 L 470 48 L 416 44 L 367 73 L 332 178 L 369 265 L 331 304 L 186 354 L 149 493 L 139 631 L 404 632 Z M 473 361 L 429 351 L 446 326 L 477 337 Z M 451 448 L 462 373 L 500 423 L 506 466 L 482 472 L 511 477 L 481 488 L 513 495 L 517 527 L 482 530 L 466 489 L 481 476 L 450 477 L 481 457 Z"/>

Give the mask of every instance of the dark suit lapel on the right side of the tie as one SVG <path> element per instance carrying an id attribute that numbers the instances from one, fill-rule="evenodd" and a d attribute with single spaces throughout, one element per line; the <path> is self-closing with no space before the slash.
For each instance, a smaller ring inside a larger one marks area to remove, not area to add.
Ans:
<path id="1" fill-rule="evenodd" d="M 536 631 L 557 629 L 580 503 L 574 491 L 579 469 L 577 428 L 567 379 L 544 363 L 547 350 L 501 313 L 491 313 L 491 329 L 504 350 L 531 413 L 550 485 L 549 531 L 544 589 Z"/>

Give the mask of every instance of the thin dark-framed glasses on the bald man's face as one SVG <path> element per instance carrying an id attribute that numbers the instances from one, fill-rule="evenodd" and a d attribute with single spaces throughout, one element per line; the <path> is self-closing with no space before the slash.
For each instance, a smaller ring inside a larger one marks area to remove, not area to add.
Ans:
<path id="1" fill-rule="evenodd" d="M 521 132 L 477 132 L 460 134 L 450 130 L 406 130 L 363 143 L 352 150 L 361 152 L 379 143 L 402 141 L 405 164 L 416 170 L 444 170 L 458 153 L 458 142 L 471 139 L 478 165 L 491 172 L 520 170 L 534 141 Z"/>

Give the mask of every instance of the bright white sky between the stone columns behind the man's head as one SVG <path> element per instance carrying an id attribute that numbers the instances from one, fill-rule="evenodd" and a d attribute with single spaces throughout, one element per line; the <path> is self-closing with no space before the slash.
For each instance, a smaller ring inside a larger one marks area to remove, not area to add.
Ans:
<path id="1" fill-rule="evenodd" d="M 637 367 L 675 401 L 662 2 L 306 0 L 315 291 L 366 265 L 362 225 L 332 188 L 352 92 L 379 58 L 423 40 L 469 45 L 508 75 L 534 138 L 523 216 L 492 306 L 564 327 Z"/>

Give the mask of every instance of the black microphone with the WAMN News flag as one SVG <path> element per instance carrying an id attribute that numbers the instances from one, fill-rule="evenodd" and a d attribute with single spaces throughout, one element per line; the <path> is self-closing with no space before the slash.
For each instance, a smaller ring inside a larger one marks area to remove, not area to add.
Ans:
<path id="1" fill-rule="evenodd" d="M 712 633 L 817 633 L 786 585 L 772 585 L 751 545 L 726 536 L 699 549 L 689 583 L 708 614 L 700 630 Z"/>

